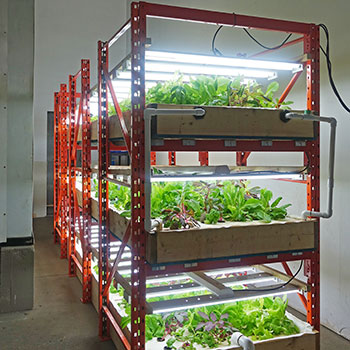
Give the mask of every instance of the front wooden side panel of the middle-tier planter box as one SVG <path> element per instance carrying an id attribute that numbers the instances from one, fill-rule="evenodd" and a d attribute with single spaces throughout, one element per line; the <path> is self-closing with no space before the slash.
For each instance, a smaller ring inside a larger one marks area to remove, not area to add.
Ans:
<path id="1" fill-rule="evenodd" d="M 245 225 L 157 234 L 157 262 L 242 256 L 315 247 L 315 223 Z"/>

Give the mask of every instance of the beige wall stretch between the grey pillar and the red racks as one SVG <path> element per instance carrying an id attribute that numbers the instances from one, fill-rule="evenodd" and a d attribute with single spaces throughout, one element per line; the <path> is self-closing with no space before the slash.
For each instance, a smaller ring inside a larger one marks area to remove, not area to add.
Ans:
<path id="1" fill-rule="evenodd" d="M 36 0 L 34 79 L 34 215 L 46 215 L 46 113 L 68 75 L 91 60 L 96 83 L 97 41 L 107 40 L 126 18 L 124 0 Z"/>

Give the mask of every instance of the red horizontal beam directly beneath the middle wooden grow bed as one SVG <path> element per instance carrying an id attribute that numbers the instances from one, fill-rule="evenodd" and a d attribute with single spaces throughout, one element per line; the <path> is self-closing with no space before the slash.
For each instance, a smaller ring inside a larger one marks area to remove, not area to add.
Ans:
<path id="1" fill-rule="evenodd" d="M 311 259 L 313 256 L 312 251 L 300 252 L 298 254 L 293 253 L 279 253 L 268 254 L 261 256 L 250 256 L 243 258 L 226 258 L 222 260 L 209 260 L 198 262 L 182 262 L 174 263 L 171 265 L 146 265 L 147 276 L 159 276 L 172 273 L 186 273 L 190 271 L 202 271 L 202 270 L 216 270 L 237 266 L 250 266 L 259 264 L 272 264 L 283 261 L 295 261 Z"/>

